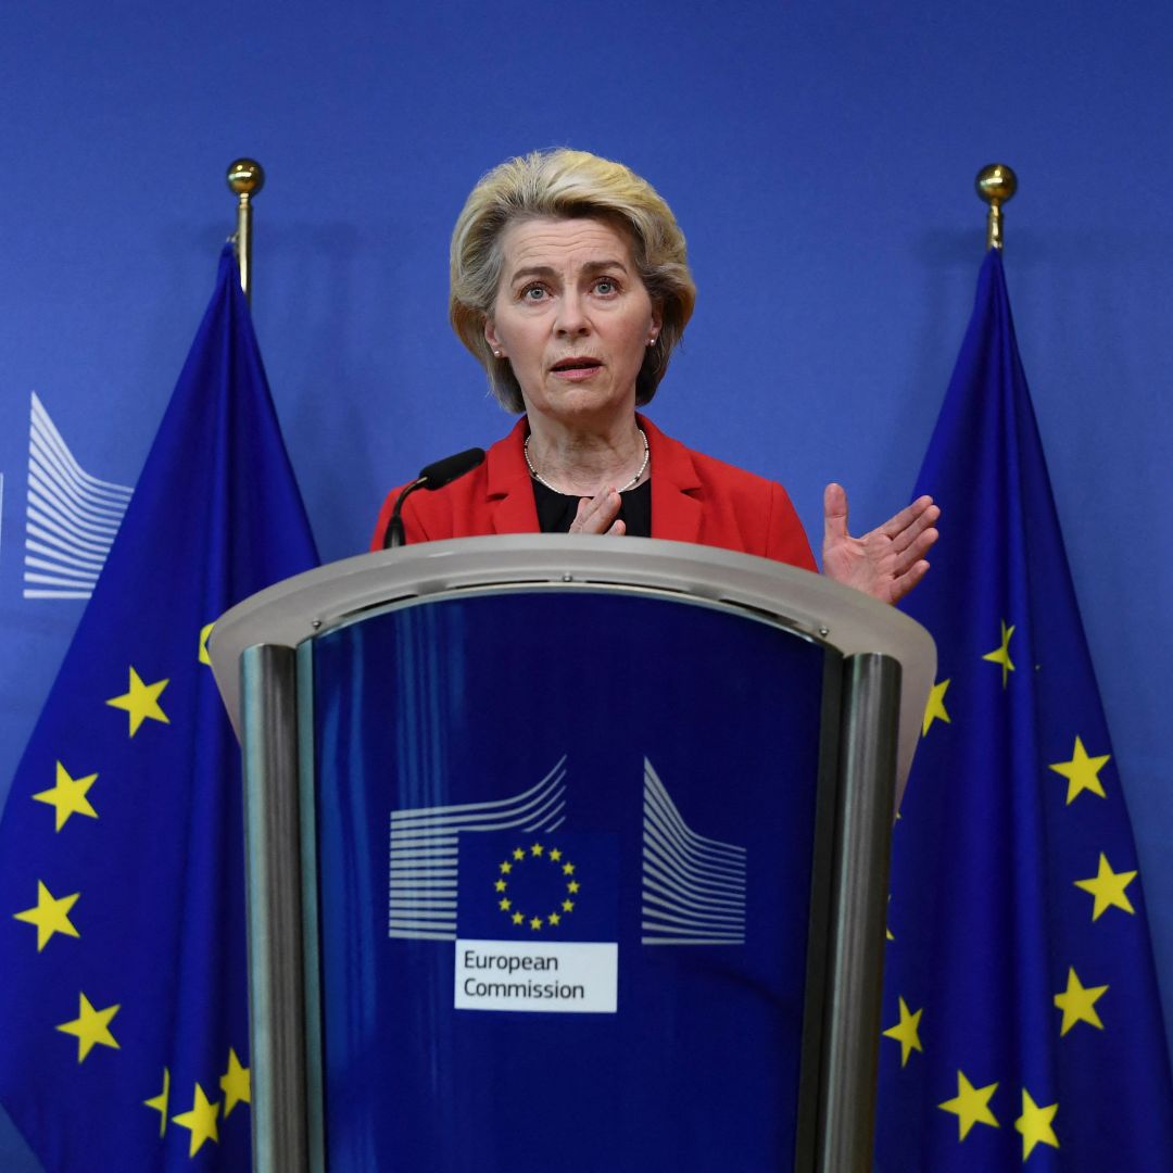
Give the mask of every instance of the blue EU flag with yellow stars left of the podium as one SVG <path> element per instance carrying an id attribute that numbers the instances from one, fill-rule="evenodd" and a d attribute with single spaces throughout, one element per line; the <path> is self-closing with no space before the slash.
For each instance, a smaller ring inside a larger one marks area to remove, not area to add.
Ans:
<path id="1" fill-rule="evenodd" d="M 316 563 L 229 246 L 0 823 L 0 1100 L 48 1169 L 249 1167 L 239 753 L 206 639 Z"/>

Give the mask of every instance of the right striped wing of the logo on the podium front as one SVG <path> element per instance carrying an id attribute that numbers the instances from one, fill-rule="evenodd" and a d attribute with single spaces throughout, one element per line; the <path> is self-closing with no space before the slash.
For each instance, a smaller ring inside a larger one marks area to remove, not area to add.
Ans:
<path id="1" fill-rule="evenodd" d="M 691 830 L 644 760 L 645 945 L 745 944 L 746 849 Z"/>

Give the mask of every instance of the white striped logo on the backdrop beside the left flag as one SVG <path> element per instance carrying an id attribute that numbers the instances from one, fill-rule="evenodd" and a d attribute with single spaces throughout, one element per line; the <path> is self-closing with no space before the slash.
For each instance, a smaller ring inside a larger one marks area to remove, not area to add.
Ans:
<path id="1" fill-rule="evenodd" d="M 33 392 L 25 598 L 89 598 L 133 491 L 90 476 Z"/>

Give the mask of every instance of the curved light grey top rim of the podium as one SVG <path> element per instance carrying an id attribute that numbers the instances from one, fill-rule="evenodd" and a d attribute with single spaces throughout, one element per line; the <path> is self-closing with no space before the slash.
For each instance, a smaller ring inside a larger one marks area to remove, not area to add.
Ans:
<path id="1" fill-rule="evenodd" d="M 223 615 L 209 640 L 212 671 L 237 734 L 239 659 L 246 647 L 296 647 L 365 611 L 494 586 L 647 590 L 747 611 L 843 656 L 893 657 L 902 670 L 896 779 L 897 795 L 902 793 L 936 672 L 929 633 L 895 608 L 821 575 L 660 538 L 517 534 L 422 542 L 277 583 Z"/>

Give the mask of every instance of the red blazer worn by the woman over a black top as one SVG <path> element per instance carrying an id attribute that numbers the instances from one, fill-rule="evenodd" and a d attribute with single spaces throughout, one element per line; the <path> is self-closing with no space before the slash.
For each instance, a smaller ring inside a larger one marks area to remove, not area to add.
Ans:
<path id="1" fill-rule="evenodd" d="M 814 557 L 786 490 L 773 481 L 713 460 L 664 435 L 639 416 L 652 468 L 652 537 L 698 542 L 814 570 Z M 499 440 L 484 463 L 434 493 L 407 499 L 408 542 L 483 534 L 536 534 L 537 507 L 523 446 L 524 418 Z M 371 540 L 381 550 L 399 489 L 387 495 Z"/>

